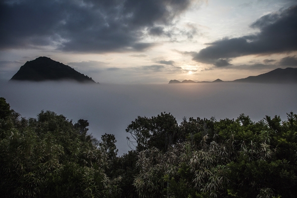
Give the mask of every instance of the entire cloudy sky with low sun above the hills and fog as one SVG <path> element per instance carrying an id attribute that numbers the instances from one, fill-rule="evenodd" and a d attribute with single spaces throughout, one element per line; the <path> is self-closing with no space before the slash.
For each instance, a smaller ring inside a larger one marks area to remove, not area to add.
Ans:
<path id="1" fill-rule="evenodd" d="M 297 0 L 0 0 L 0 80 L 39 56 L 100 84 L 297 67 Z"/>

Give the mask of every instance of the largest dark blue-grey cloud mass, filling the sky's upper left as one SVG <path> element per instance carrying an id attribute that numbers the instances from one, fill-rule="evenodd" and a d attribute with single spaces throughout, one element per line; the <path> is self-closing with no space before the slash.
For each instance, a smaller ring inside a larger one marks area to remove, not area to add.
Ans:
<path id="1" fill-rule="evenodd" d="M 0 49 L 54 46 L 65 51 L 144 50 L 144 30 L 158 35 L 192 0 L 4 0 Z"/>

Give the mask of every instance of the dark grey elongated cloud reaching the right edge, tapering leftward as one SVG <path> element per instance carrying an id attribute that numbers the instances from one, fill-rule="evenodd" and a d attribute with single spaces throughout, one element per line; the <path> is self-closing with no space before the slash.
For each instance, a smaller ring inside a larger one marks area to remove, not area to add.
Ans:
<path id="1" fill-rule="evenodd" d="M 228 58 L 249 54 L 271 54 L 297 50 L 297 6 L 262 16 L 251 24 L 260 32 L 240 38 L 222 39 L 193 54 L 198 62 L 226 66 Z M 217 64 L 219 63 L 222 64 Z M 225 63 L 225 64 L 224 64 Z"/>

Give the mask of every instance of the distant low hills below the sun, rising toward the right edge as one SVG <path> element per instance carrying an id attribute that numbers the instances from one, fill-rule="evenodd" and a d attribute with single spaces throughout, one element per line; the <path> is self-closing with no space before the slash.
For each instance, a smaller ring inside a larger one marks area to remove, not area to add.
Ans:
<path id="1" fill-rule="evenodd" d="M 275 69 L 270 72 L 260 74 L 258 76 L 249 76 L 247 78 L 237 79 L 234 81 L 222 81 L 216 79 L 215 81 L 201 81 L 195 82 L 193 80 L 170 80 L 169 84 L 175 83 L 218 83 L 218 82 L 241 82 L 241 83 L 297 83 L 297 68 L 288 67 L 286 69 Z"/>

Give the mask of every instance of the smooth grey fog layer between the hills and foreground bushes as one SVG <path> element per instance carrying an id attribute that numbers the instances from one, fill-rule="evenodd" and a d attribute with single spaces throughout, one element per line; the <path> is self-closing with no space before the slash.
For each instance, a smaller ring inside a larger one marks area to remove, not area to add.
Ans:
<path id="1" fill-rule="evenodd" d="M 297 113 L 294 84 L 205 83 L 165 85 L 86 85 L 69 82 L 0 83 L 0 97 L 22 117 L 36 117 L 41 110 L 63 114 L 69 120 L 87 119 L 89 132 L 100 139 L 114 134 L 119 154 L 128 152 L 125 132 L 137 116 L 170 112 L 178 123 L 183 117 L 237 118 L 253 121 L 265 115 Z"/>

